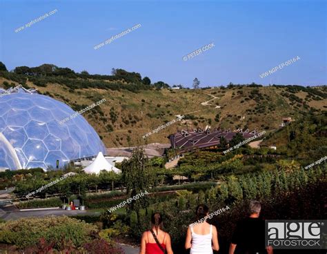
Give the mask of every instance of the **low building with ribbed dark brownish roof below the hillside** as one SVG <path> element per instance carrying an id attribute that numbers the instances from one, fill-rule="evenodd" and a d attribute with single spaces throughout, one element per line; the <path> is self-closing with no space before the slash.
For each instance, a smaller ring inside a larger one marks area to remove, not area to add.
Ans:
<path id="1" fill-rule="evenodd" d="M 236 133 L 241 133 L 244 139 L 248 139 L 257 134 L 256 130 L 249 132 L 248 130 L 181 130 L 181 132 L 170 135 L 170 144 L 172 148 L 179 149 L 181 152 L 187 150 L 195 150 L 201 148 L 217 148 L 220 144 L 220 137 L 225 137 L 226 141 L 232 140 Z"/>

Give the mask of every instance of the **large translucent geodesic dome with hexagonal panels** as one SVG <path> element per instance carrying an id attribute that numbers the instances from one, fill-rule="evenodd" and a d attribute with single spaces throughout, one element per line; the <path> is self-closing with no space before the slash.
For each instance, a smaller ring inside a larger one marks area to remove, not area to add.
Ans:
<path id="1" fill-rule="evenodd" d="M 0 168 L 61 168 L 72 159 L 106 154 L 99 135 L 66 104 L 35 90 L 0 89 Z"/>

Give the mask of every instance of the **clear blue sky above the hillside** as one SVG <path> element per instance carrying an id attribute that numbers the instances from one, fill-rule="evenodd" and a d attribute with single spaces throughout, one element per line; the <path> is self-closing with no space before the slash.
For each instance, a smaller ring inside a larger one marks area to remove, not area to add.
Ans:
<path id="1" fill-rule="evenodd" d="M 14 32 L 37 17 L 57 13 Z M 55 64 L 110 74 L 123 68 L 152 82 L 191 86 L 327 84 L 327 1 L 0 0 L 0 61 Z M 93 47 L 140 23 L 141 28 Z M 215 48 L 183 57 L 213 42 Z M 299 61 L 261 79 L 293 57 Z"/>

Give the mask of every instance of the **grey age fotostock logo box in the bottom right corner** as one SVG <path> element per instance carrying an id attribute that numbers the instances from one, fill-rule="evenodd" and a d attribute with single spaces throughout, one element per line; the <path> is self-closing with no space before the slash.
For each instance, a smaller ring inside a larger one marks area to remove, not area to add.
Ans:
<path id="1" fill-rule="evenodd" d="M 266 220 L 266 246 L 325 249 L 327 220 Z"/>

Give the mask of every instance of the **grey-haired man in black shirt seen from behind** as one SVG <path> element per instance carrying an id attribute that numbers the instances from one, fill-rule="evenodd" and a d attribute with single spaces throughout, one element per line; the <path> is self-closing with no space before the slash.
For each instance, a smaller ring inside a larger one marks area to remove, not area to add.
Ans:
<path id="1" fill-rule="evenodd" d="M 241 220 L 232 235 L 229 254 L 271 254 L 273 248 L 265 246 L 265 224 L 259 218 L 261 204 L 250 201 L 250 216 Z"/>

